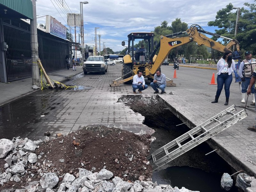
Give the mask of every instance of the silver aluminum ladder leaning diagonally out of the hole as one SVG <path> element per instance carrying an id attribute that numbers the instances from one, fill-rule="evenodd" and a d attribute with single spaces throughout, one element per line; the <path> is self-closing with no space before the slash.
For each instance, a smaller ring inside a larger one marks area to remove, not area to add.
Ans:
<path id="1" fill-rule="evenodd" d="M 232 105 L 151 153 L 148 160 L 153 171 L 248 116 L 245 109 L 236 114 L 234 111 L 236 111 L 236 105 Z M 197 133 L 200 135 L 197 136 Z"/>

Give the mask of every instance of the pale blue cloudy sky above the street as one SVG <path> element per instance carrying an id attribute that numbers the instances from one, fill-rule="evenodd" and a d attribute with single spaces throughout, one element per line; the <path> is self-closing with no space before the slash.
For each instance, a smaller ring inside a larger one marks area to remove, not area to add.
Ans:
<path id="1" fill-rule="evenodd" d="M 232 0 L 231 3 L 234 7 L 241 8 L 244 7 L 245 2 L 255 3 L 254 0 Z M 164 20 L 168 22 L 168 26 L 171 26 L 176 18 L 188 23 L 188 26 L 198 24 L 205 31 L 214 33 L 214 29 L 217 28 L 208 27 L 207 23 L 215 20 L 217 11 L 225 8 L 229 3 L 230 1 L 226 0 L 88 0 L 88 4 L 83 4 L 84 43 L 95 45 L 95 28 L 97 27 L 98 50 L 100 47 L 102 51 L 103 42 L 105 42 L 105 46 L 114 52 L 122 51 L 125 47 L 121 42 L 127 40 L 127 35 L 131 32 L 151 32 Z M 236 10 L 233 11 L 236 12 Z M 45 24 L 45 15 L 51 15 L 68 27 L 67 13 L 80 13 L 80 1 L 36 1 L 36 15 L 40 17 L 37 18 L 38 24 Z M 74 36 L 74 27 L 71 33 Z M 100 45 L 98 35 L 100 35 Z M 78 42 L 78 34 L 76 40 Z"/>

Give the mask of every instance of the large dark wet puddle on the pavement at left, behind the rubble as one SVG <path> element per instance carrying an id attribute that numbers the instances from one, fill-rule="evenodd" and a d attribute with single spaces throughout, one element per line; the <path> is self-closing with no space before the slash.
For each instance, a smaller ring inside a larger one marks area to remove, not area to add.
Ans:
<path id="1" fill-rule="evenodd" d="M 32 139 L 36 135 L 35 132 L 42 129 L 39 122 L 54 120 L 53 114 L 67 99 L 52 96 L 52 90 L 41 92 L 43 94 L 32 93 L 0 107 L 1 138 L 12 140 L 13 137 L 30 136 Z"/>

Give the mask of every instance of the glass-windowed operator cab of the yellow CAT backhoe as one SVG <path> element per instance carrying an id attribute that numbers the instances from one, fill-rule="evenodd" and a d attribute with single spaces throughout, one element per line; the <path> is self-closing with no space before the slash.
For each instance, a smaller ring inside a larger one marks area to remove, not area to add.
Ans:
<path id="1" fill-rule="evenodd" d="M 122 45 L 125 45 L 124 41 Z M 144 45 L 146 49 L 144 53 L 140 51 L 142 49 L 141 45 Z M 131 56 L 133 64 L 146 63 L 154 50 L 154 33 L 130 33 L 127 49 L 126 54 Z"/>

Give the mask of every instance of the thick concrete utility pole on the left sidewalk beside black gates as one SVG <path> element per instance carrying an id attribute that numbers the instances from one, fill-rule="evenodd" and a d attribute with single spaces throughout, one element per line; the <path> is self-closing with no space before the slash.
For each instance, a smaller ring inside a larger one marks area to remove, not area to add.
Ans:
<path id="1" fill-rule="evenodd" d="M 38 86 L 39 85 L 39 67 L 37 65 L 38 40 L 37 40 L 37 24 L 36 24 L 36 0 L 32 0 L 32 5 L 33 5 L 33 19 L 30 20 L 32 85 Z"/>

